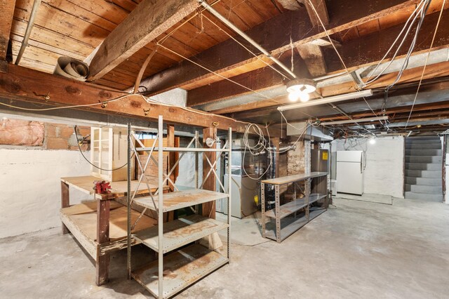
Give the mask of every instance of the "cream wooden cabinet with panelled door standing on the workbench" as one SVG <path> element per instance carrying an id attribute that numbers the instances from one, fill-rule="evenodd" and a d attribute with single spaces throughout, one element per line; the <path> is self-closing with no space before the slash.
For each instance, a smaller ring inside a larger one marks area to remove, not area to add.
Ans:
<path id="1" fill-rule="evenodd" d="M 127 167 L 123 166 L 126 164 L 128 152 L 126 136 L 126 128 L 91 128 L 91 161 L 102 168 L 91 166 L 91 175 L 111 182 L 126 180 Z M 131 165 L 131 174 L 133 173 L 134 163 Z"/>

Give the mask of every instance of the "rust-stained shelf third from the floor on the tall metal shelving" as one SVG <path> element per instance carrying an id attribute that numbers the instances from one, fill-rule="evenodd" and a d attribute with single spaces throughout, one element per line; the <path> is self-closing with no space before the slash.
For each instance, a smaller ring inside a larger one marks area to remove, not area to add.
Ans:
<path id="1" fill-rule="evenodd" d="M 165 193 L 163 194 L 163 212 L 174 211 L 177 210 L 178 208 L 186 208 L 187 206 L 203 204 L 208 201 L 225 199 L 227 197 L 229 197 L 229 195 L 225 193 L 202 189 L 192 189 L 192 190 Z M 159 207 L 158 195 L 153 196 L 153 198 L 156 207 Z M 156 211 L 156 208 L 154 208 L 152 197 L 139 197 L 134 199 L 134 202 L 135 204 Z"/>

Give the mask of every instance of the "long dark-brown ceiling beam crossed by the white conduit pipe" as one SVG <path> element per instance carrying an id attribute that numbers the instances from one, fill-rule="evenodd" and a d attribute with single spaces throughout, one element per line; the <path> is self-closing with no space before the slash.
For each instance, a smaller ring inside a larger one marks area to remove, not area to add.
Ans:
<path id="1" fill-rule="evenodd" d="M 360 5 L 353 0 L 332 1 L 338 2 L 333 4 L 331 11 L 333 14 L 328 24 L 328 33 L 335 34 L 343 32 L 357 25 L 361 25 L 370 20 L 381 18 L 404 8 L 413 6 L 419 0 L 378 0 L 366 1 Z M 330 4 L 328 4 L 330 5 Z M 335 6 L 335 7 L 334 7 Z M 350 12 L 350 13 L 349 13 Z M 297 11 L 286 11 L 266 22 L 257 25 L 246 31 L 246 34 L 254 39 L 258 44 L 263 46 L 272 55 L 280 55 L 285 51 L 290 51 L 290 39 L 293 46 L 307 44 L 316 39 L 326 38 L 326 33 L 321 27 L 313 27 L 308 20 L 307 11 L 302 8 Z M 245 44 L 245 41 L 242 41 Z M 262 55 L 259 58 L 263 58 Z M 227 74 L 232 69 L 237 69 L 251 62 L 257 61 L 253 55 L 248 53 L 235 41 L 228 39 L 217 44 L 198 55 L 192 60 L 205 65 L 213 72 L 218 74 Z M 260 67 L 263 67 L 260 64 Z M 148 90 L 149 95 L 168 91 L 171 88 L 190 86 L 203 86 L 210 84 L 210 80 L 222 80 L 215 74 L 210 73 L 206 69 L 198 67 L 192 62 L 182 61 L 174 67 L 170 67 L 158 74 L 142 80 L 142 85 Z"/>

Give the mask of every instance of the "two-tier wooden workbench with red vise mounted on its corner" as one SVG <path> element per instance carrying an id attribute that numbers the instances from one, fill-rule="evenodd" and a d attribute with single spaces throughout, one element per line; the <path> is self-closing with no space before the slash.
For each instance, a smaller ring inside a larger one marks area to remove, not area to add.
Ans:
<path id="1" fill-rule="evenodd" d="M 95 282 L 99 286 L 108 280 L 109 253 L 126 248 L 126 181 L 110 182 L 109 194 L 95 194 L 93 182 L 100 180 L 94 176 L 61 178 L 61 210 L 62 234 L 72 232 L 73 236 L 95 260 Z M 131 190 L 135 191 L 137 180 L 131 181 Z M 91 199 L 81 204 L 70 206 L 69 187 L 91 195 Z M 152 192 L 156 185 L 150 185 Z M 167 186 L 164 188 L 168 190 Z M 140 183 L 138 194 L 148 194 L 145 182 Z M 140 210 L 141 211 L 141 210 Z M 140 215 L 140 211 L 132 211 L 131 222 Z M 150 214 L 151 215 L 151 214 Z M 150 215 L 143 215 L 133 232 L 156 225 L 156 220 Z M 134 238 L 132 244 L 138 244 Z"/>

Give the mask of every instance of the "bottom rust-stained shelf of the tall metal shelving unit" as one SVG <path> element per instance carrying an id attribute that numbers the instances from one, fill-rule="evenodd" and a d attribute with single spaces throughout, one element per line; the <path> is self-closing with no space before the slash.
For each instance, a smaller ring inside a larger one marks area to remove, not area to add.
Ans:
<path id="1" fill-rule="evenodd" d="M 170 298 L 227 263 L 219 253 L 194 244 L 164 257 L 163 295 L 159 296 L 157 260 L 133 272 L 133 278 L 156 298 Z"/>

